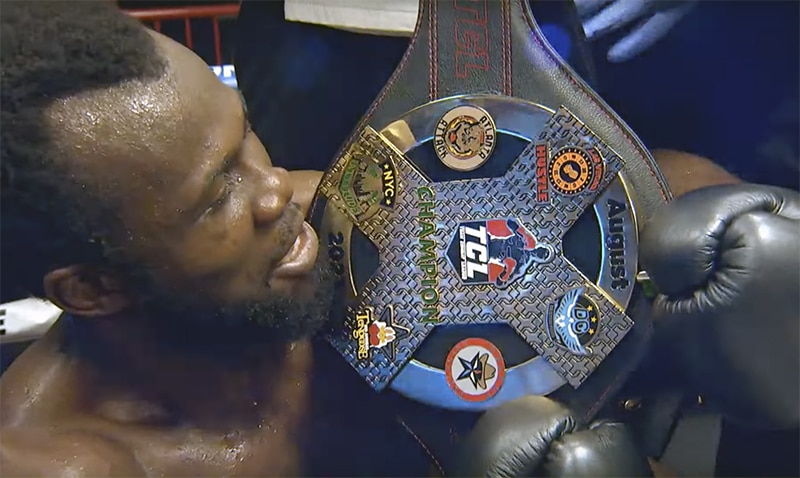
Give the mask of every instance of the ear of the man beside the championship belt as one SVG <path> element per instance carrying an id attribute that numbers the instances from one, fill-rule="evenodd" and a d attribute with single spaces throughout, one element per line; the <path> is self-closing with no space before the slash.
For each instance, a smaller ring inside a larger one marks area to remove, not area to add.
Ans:
<path id="1" fill-rule="evenodd" d="M 133 298 L 113 273 L 87 265 L 72 265 L 44 276 L 47 298 L 79 317 L 106 317 L 128 308 Z"/>

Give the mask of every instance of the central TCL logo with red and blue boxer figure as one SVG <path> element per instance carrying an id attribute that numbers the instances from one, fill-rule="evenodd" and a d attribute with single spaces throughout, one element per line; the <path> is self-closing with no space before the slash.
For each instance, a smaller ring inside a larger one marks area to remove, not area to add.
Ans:
<path id="1" fill-rule="evenodd" d="M 540 242 L 513 218 L 462 222 L 447 250 L 450 263 L 465 284 L 505 288 L 550 262 L 553 247 Z"/>

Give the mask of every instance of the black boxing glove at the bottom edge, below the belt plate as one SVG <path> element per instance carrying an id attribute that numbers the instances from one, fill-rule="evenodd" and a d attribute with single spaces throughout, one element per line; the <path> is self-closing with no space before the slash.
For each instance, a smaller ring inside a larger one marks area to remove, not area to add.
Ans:
<path id="1" fill-rule="evenodd" d="M 487 411 L 458 452 L 453 476 L 652 476 L 622 423 L 579 427 L 566 407 L 533 395 Z"/>

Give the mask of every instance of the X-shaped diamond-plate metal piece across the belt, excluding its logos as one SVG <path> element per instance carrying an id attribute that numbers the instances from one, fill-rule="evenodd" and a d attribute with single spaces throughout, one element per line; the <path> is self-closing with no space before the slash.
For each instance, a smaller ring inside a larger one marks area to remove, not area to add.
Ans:
<path id="1" fill-rule="evenodd" d="M 569 196 L 551 187 L 549 202 L 537 202 L 534 155 L 537 144 L 546 144 L 548 155 L 563 147 L 594 148 L 605 163 L 598 187 Z M 344 206 L 337 187 L 345 163 L 354 154 L 375 164 L 392 161 L 397 173 L 393 208 L 376 207 L 357 218 Z M 378 269 L 358 291 L 356 303 L 351 307 L 369 305 L 380 314 L 385 305 L 391 304 L 394 323 L 409 329 L 410 334 L 397 344 L 394 360 L 379 350 L 373 350 L 369 359 L 359 360 L 356 341 L 346 328 L 332 334 L 330 342 L 373 388 L 382 390 L 434 326 L 507 322 L 568 383 L 578 387 L 625 336 L 633 322 L 604 291 L 563 257 L 561 238 L 583 211 L 591 207 L 621 166 L 619 156 L 565 108 L 552 116 L 540 137 L 520 154 L 503 177 L 491 179 L 433 183 L 380 134 L 365 128 L 323 178 L 320 191 L 329 204 L 347 215 L 375 244 L 380 254 Z M 431 204 L 421 206 L 426 201 L 432 203 L 432 208 Z M 433 211 L 433 217 L 421 217 L 420 212 L 428 210 Z M 553 246 L 556 257 L 549 263 L 535 265 L 529 274 L 504 289 L 491 284 L 463 284 L 458 265 L 450 264 L 447 259 L 447 248 L 457 234 L 459 223 L 507 217 L 520 221 L 537 241 Z M 430 226 L 423 229 L 425 221 L 435 226 L 425 237 L 435 243 L 434 285 L 425 274 L 431 265 L 423 268 L 420 264 L 425 253 L 419 236 L 422 231 L 431 230 Z M 426 278 L 428 281 L 423 282 Z M 568 290 L 581 286 L 598 306 L 600 316 L 589 355 L 574 355 L 557 345 L 549 337 L 545 324 L 548 306 Z M 426 307 L 422 292 L 432 287 L 438 294 L 436 323 L 421 320 Z"/>

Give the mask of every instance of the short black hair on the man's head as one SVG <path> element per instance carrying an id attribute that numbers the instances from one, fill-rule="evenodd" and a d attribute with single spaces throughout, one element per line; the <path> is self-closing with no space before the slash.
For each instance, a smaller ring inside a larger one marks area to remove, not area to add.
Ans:
<path id="1" fill-rule="evenodd" d="M 166 61 L 137 20 L 108 1 L 0 3 L 0 301 L 43 296 L 44 275 L 106 255 L 91 185 L 56 156 L 55 100 L 163 77 Z"/>

